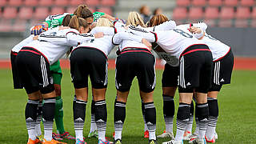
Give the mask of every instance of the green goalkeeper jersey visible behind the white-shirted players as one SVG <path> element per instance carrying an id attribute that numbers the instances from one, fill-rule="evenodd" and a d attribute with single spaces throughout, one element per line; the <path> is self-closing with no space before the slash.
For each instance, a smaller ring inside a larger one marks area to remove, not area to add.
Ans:
<path id="1" fill-rule="evenodd" d="M 57 26 L 61 26 L 62 25 L 62 21 L 63 18 L 69 13 L 64 13 L 64 14 L 56 14 L 56 15 L 50 15 L 46 18 L 46 21 L 48 23 L 48 27 L 49 28 L 54 28 Z M 94 22 L 97 21 L 98 18 L 100 18 L 102 15 L 104 15 L 105 13 L 102 12 L 94 12 Z M 74 14 L 70 14 L 71 16 L 73 16 Z"/>

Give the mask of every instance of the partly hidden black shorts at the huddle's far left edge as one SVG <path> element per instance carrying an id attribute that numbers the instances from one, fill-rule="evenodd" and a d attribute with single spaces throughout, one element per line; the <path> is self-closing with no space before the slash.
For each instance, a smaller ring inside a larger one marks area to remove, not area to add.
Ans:
<path id="1" fill-rule="evenodd" d="M 22 79 L 18 75 L 18 67 L 16 66 L 16 57 L 17 57 L 16 52 L 11 51 L 10 53 L 10 62 L 11 62 L 11 70 L 13 73 L 13 82 L 14 82 L 14 89 L 23 89 L 22 85 Z"/>

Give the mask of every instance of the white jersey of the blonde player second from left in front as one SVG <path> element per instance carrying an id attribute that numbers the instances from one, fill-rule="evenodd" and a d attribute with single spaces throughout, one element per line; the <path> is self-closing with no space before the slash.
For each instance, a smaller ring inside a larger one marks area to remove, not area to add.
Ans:
<path id="1" fill-rule="evenodd" d="M 112 44 L 112 37 L 114 35 L 113 27 L 106 26 L 96 26 L 93 30 L 91 30 L 91 34 L 96 34 L 98 32 L 103 32 L 104 36 L 102 38 L 95 38 L 89 42 L 82 42 L 81 45 L 75 47 L 93 47 L 95 49 L 101 50 L 104 54 L 109 55 L 110 51 L 114 48 Z"/>

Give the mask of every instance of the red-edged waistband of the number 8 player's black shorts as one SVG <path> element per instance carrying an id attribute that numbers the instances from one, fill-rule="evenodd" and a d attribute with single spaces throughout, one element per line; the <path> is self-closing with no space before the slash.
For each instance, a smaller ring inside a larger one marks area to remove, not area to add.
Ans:
<path id="1" fill-rule="evenodd" d="M 210 51 L 209 47 L 205 44 L 196 44 L 186 48 L 180 55 L 180 58 L 186 54 L 193 53 L 195 51 Z"/>

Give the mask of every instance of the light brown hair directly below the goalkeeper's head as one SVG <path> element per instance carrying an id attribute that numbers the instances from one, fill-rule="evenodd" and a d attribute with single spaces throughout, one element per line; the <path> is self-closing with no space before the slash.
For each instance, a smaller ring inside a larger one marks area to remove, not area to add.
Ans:
<path id="1" fill-rule="evenodd" d="M 70 23 L 69 25 L 70 28 L 79 30 L 80 26 L 83 26 L 84 28 L 88 27 L 89 25 L 87 24 L 86 20 L 84 18 L 78 18 L 78 16 L 74 15 L 71 19 L 70 19 Z"/>

